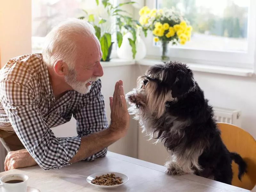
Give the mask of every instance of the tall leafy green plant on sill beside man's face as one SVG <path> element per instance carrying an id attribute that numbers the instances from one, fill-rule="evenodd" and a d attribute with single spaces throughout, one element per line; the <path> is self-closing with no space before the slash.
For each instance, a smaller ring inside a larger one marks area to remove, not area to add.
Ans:
<path id="1" fill-rule="evenodd" d="M 112 35 L 116 29 L 116 40 L 118 47 L 120 48 L 123 35 L 127 32 L 132 33 L 132 38 L 129 38 L 129 43 L 132 49 L 133 58 L 136 54 L 136 25 L 139 24 L 137 20 L 132 19 L 131 15 L 122 10 L 121 7 L 126 4 L 133 4 L 135 2 L 120 3 L 114 6 L 109 0 L 102 0 L 102 4 L 99 4 L 99 0 L 95 0 L 98 8 L 104 8 L 104 13 L 88 14 L 86 10 L 83 10 L 85 16 L 79 17 L 79 19 L 87 19 L 96 30 L 96 36 L 100 41 L 102 51 L 102 61 L 109 61 L 112 50 Z M 102 11 L 102 10 L 101 10 Z M 105 17 L 104 17 L 105 16 Z M 112 18 L 115 19 L 111 20 Z M 117 28 L 116 28 L 117 26 Z"/>

